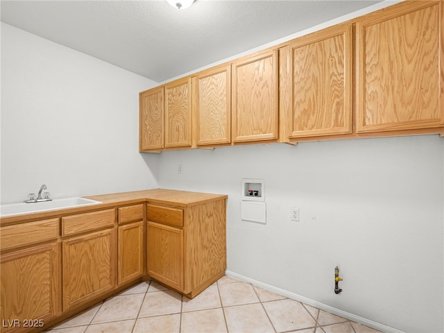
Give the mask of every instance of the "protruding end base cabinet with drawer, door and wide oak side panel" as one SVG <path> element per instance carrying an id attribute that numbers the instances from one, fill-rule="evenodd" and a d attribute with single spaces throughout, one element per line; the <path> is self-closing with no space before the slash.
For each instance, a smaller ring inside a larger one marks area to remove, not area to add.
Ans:
<path id="1" fill-rule="evenodd" d="M 147 273 L 189 298 L 225 274 L 226 198 L 148 203 Z"/>

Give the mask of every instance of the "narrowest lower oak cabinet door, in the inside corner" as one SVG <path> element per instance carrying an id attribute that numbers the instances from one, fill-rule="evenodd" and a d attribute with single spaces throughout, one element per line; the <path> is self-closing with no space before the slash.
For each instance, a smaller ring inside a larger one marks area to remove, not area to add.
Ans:
<path id="1" fill-rule="evenodd" d="M 144 221 L 119 226 L 119 284 L 144 275 Z"/>

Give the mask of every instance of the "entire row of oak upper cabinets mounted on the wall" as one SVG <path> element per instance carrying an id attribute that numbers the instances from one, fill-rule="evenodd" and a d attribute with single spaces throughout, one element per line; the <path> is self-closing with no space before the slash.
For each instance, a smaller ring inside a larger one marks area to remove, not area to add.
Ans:
<path id="1" fill-rule="evenodd" d="M 140 151 L 443 134 L 443 22 L 402 1 L 142 93 Z"/>

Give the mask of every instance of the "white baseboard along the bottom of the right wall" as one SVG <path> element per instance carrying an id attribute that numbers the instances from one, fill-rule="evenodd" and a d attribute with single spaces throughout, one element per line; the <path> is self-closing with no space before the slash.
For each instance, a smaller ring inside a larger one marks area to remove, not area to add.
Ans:
<path id="1" fill-rule="evenodd" d="M 384 333 L 405 333 L 404 331 L 397 330 L 393 327 L 389 327 L 380 323 L 377 323 L 375 321 L 370 321 L 366 318 L 362 318 L 360 316 L 357 316 L 355 314 L 350 314 L 350 312 L 343 311 L 341 309 L 336 309 L 336 307 L 330 307 L 330 305 L 325 305 L 321 302 L 317 302 L 316 300 L 311 300 L 310 298 L 306 298 L 304 296 L 300 296 L 296 293 L 291 293 L 291 291 L 287 291 L 284 289 L 280 289 L 274 286 L 271 286 L 270 284 L 266 284 L 264 282 L 260 282 L 254 279 L 247 278 L 244 275 L 240 275 L 237 273 L 234 273 L 232 271 L 225 271 L 225 275 L 227 275 L 230 278 L 248 282 L 250 284 L 253 284 L 254 286 L 261 287 L 263 289 L 266 289 L 268 291 L 272 291 L 273 293 L 278 293 L 281 296 L 285 296 L 287 298 L 291 298 L 292 300 L 297 300 L 298 302 L 302 302 L 307 305 L 311 305 L 312 307 L 316 307 L 318 309 L 321 309 L 323 311 L 330 312 L 330 314 L 336 314 L 336 316 L 340 316 L 342 318 L 348 319 L 349 321 L 354 321 L 355 323 L 359 323 L 362 325 L 366 325 L 368 327 L 371 327 L 375 330 L 384 332 Z"/>

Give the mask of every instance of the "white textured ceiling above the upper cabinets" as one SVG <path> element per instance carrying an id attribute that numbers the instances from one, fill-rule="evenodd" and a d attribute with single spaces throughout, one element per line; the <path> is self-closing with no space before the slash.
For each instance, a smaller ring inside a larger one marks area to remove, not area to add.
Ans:
<path id="1" fill-rule="evenodd" d="M 157 82 L 380 0 L 1 1 L 1 21 Z"/>

